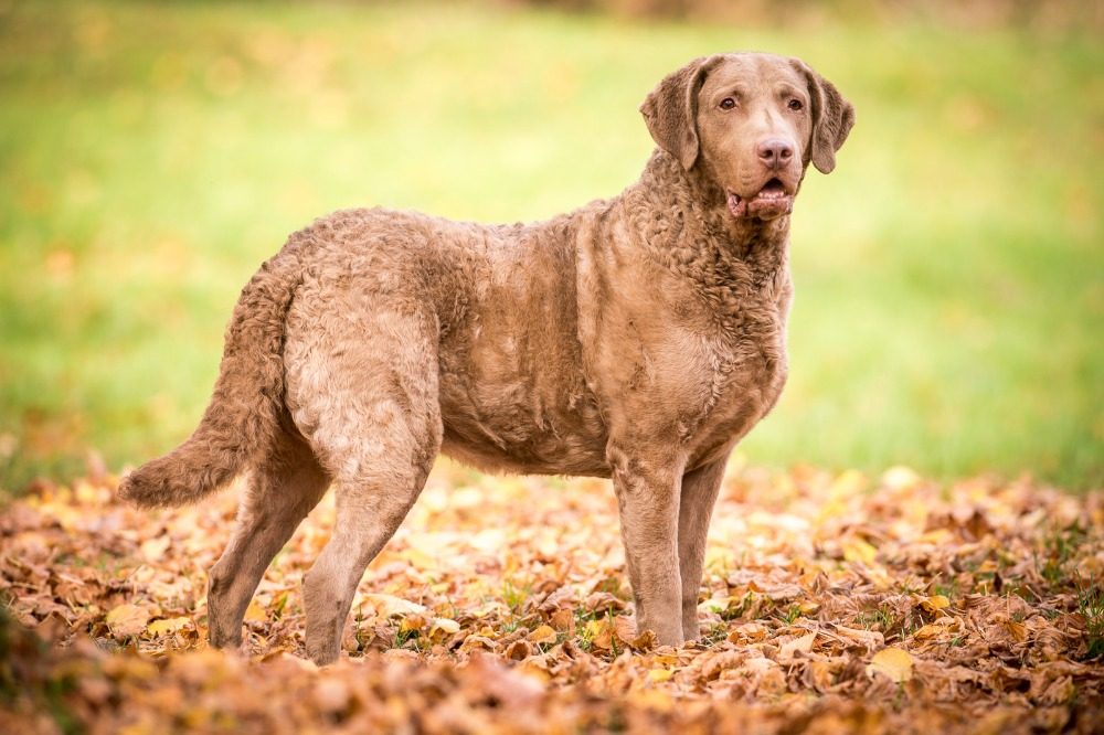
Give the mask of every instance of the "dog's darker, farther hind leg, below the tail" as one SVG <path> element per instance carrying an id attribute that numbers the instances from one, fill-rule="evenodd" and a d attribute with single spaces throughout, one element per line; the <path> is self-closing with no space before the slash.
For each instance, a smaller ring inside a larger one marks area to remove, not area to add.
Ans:
<path id="1" fill-rule="evenodd" d="M 328 486 L 302 439 L 282 433 L 253 470 L 230 544 L 209 575 L 212 646 L 241 645 L 242 619 L 261 577 Z"/>

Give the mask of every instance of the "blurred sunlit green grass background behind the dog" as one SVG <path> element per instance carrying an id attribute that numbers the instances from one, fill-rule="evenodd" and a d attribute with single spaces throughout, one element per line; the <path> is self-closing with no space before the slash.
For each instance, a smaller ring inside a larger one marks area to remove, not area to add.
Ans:
<path id="1" fill-rule="evenodd" d="M 1098 2 L 0 0 L 0 488 L 194 427 L 238 290 L 339 207 L 617 194 L 720 51 L 854 104 L 797 203 L 792 377 L 753 465 L 1104 486 Z"/>

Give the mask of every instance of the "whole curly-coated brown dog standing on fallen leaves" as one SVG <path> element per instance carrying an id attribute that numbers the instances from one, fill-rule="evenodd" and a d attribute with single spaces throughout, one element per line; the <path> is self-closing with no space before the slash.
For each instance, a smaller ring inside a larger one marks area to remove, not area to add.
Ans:
<path id="1" fill-rule="evenodd" d="M 295 233 L 242 290 L 194 434 L 123 480 L 139 505 L 252 470 L 211 569 L 211 642 L 237 646 L 273 556 L 337 483 L 304 580 L 333 661 L 364 567 L 438 451 L 492 471 L 613 478 L 638 627 L 698 637 L 725 459 L 786 380 L 789 214 L 853 124 L 795 58 L 723 54 L 640 107 L 657 149 L 614 199 L 482 225 L 351 210 Z"/>

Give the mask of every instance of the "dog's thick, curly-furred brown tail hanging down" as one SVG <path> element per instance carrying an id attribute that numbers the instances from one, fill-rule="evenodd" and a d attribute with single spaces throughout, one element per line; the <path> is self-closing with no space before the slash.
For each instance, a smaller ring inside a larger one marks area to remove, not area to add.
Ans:
<path id="1" fill-rule="evenodd" d="M 272 446 L 286 412 L 284 322 L 300 278 L 299 258 L 285 247 L 242 289 L 200 425 L 174 450 L 123 478 L 119 499 L 142 508 L 195 502 Z"/>

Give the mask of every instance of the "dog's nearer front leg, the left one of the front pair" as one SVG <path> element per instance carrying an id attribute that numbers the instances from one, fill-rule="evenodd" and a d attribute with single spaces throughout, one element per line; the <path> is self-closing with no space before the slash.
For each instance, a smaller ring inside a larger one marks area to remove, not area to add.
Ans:
<path id="1" fill-rule="evenodd" d="M 683 641 L 678 550 L 681 462 L 613 447 L 608 457 L 637 630 L 654 630 L 659 645 L 678 646 Z"/>

